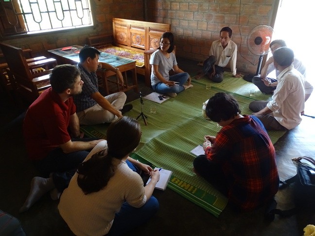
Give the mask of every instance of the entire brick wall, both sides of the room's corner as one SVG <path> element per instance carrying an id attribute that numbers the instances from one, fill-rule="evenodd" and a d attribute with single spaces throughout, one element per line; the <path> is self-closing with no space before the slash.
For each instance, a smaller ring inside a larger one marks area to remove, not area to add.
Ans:
<path id="1" fill-rule="evenodd" d="M 172 33 L 175 35 L 176 54 L 203 61 L 209 54 L 212 41 L 219 39 L 221 28 L 229 26 L 233 30 L 232 40 L 238 45 L 237 68 L 254 73 L 257 65 L 251 63 L 257 64 L 259 56 L 248 51 L 246 35 L 259 24 L 271 25 L 274 5 L 279 0 L 90 1 L 95 23 L 93 27 L 40 36 L 19 36 L 3 42 L 22 49 L 32 49 L 34 56 L 45 55 L 50 49 L 84 45 L 90 35 L 112 33 L 113 17 L 145 19 L 171 24 Z"/>

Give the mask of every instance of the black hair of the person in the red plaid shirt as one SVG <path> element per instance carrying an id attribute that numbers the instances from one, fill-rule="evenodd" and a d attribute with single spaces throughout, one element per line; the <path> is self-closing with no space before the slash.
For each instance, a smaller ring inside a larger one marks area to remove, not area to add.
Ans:
<path id="1" fill-rule="evenodd" d="M 232 95 L 216 93 L 206 106 L 206 114 L 214 122 L 225 121 L 241 113 L 238 102 Z"/>

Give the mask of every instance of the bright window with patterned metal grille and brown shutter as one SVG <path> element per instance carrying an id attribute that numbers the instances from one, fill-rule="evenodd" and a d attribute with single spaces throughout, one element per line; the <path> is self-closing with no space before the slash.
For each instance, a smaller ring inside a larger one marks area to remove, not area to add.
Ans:
<path id="1" fill-rule="evenodd" d="M 89 0 L 0 0 L 3 36 L 93 25 Z"/>

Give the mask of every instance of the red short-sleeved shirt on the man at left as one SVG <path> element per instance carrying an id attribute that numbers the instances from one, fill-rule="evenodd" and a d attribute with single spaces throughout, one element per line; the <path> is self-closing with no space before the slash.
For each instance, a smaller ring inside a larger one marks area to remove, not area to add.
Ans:
<path id="1" fill-rule="evenodd" d="M 46 89 L 32 103 L 23 123 L 23 135 L 31 160 L 43 159 L 71 139 L 68 126 L 75 110 L 72 98 L 64 102 L 52 88 Z"/>

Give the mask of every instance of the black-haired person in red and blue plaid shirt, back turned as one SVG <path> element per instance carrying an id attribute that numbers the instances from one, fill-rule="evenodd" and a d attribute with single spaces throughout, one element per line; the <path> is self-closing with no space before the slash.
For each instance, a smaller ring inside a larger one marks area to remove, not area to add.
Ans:
<path id="1" fill-rule="evenodd" d="M 207 116 L 223 126 L 217 136 L 205 136 L 204 155 L 193 161 L 194 172 L 242 210 L 253 210 L 277 193 L 276 152 L 262 122 L 241 115 L 238 102 L 217 93 L 206 106 Z"/>

